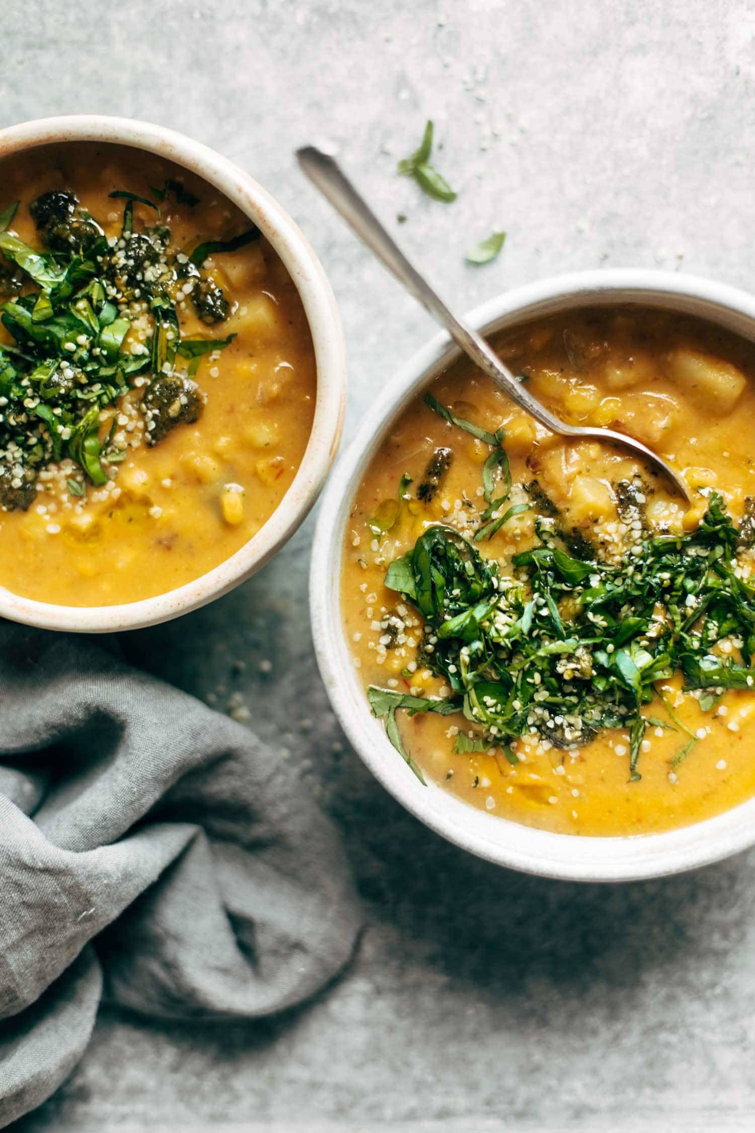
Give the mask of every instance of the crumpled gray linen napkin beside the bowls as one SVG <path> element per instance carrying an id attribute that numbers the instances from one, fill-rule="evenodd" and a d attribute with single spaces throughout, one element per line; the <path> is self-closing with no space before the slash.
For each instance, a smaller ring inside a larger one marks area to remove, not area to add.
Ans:
<path id="1" fill-rule="evenodd" d="M 246 729 L 101 644 L 0 623 L 0 1126 L 72 1070 L 103 995 L 266 1015 L 358 929 L 333 828 Z"/>

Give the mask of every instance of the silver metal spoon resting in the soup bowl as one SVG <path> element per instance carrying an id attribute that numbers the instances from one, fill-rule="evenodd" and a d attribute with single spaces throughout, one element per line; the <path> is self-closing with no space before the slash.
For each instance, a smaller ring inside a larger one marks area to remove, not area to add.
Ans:
<path id="1" fill-rule="evenodd" d="M 658 453 L 653 452 L 641 441 L 625 433 L 617 433 L 610 428 L 597 428 L 590 425 L 567 425 L 565 421 L 554 417 L 550 410 L 541 406 L 527 389 L 517 382 L 511 369 L 494 352 L 482 335 L 478 334 L 470 326 L 465 326 L 455 315 L 448 310 L 443 299 L 432 290 L 430 284 L 412 267 L 403 252 L 369 208 L 367 202 L 360 196 L 346 174 L 343 172 L 337 161 L 331 154 L 324 153 L 317 146 L 308 145 L 297 151 L 299 164 L 320 190 L 336 212 L 341 213 L 348 224 L 357 236 L 374 252 L 378 259 L 381 259 L 389 272 L 396 276 L 400 283 L 406 288 L 410 295 L 422 304 L 432 317 L 445 326 L 451 337 L 458 343 L 462 350 L 469 355 L 472 361 L 488 374 L 498 389 L 515 401 L 517 406 L 525 409 L 535 420 L 549 428 L 551 433 L 559 436 L 591 437 L 597 441 L 614 441 L 623 444 L 626 449 L 650 460 L 657 465 L 678 492 L 689 500 L 689 488 L 681 477 L 662 460 Z"/>

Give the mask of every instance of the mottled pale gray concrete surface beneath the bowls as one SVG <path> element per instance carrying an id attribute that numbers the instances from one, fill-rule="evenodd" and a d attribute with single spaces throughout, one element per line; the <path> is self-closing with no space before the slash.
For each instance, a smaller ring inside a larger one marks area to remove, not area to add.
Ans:
<path id="1" fill-rule="evenodd" d="M 162 121 L 289 207 L 341 304 L 348 431 L 431 326 L 295 170 L 292 150 L 312 137 L 340 143 L 462 308 L 603 264 L 755 283 L 744 0 L 5 0 L 2 26 L 2 125 L 93 110 Z M 460 194 L 451 206 L 394 174 L 427 117 Z M 499 261 L 465 266 L 495 225 L 508 231 Z M 752 1128 L 755 855 L 599 888 L 443 843 L 372 782 L 328 710 L 308 631 L 310 537 L 311 521 L 247 586 L 128 648 L 221 708 L 239 693 L 340 824 L 368 910 L 353 968 L 264 1024 L 103 1014 L 24 1133 Z"/>

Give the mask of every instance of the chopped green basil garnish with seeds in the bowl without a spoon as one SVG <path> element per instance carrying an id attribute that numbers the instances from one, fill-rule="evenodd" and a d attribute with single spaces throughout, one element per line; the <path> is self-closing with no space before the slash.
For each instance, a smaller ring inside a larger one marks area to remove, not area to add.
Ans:
<path id="1" fill-rule="evenodd" d="M 165 193 L 191 204 L 192 195 L 181 196 L 179 189 L 178 181 L 165 182 Z M 186 280 L 208 281 L 171 246 L 169 229 L 134 231 L 135 202 L 160 218 L 153 201 L 121 189 L 110 196 L 126 201 L 121 236 L 113 241 L 68 190 L 43 193 L 29 205 L 43 250 L 8 231 L 17 202 L 0 213 L 0 256 L 27 284 L 0 305 L 2 324 L 15 340 L 0 346 L 0 505 L 6 510 L 28 508 L 40 471 L 66 457 L 85 474 L 83 484 L 68 479 L 70 495 L 85 496 L 87 480 L 108 483 L 105 467 L 123 460 L 126 450 L 113 446 L 114 416 L 101 437 L 101 414 L 139 375 L 148 377 L 141 401 L 148 444 L 182 420 L 196 419 L 203 400 L 190 378 L 199 359 L 234 338 L 181 340 L 177 304 L 187 299 Z M 249 238 L 244 233 L 223 247 L 240 247 Z M 153 332 L 131 349 L 134 301 L 146 304 Z M 178 415 L 174 391 L 180 393 Z"/>

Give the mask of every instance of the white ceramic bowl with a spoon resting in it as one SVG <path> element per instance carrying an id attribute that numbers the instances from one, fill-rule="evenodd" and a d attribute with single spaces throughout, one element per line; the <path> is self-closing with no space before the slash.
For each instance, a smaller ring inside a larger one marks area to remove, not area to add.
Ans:
<path id="1" fill-rule="evenodd" d="M 710 280 L 646 271 L 582 272 L 509 291 L 478 307 L 467 322 L 492 334 L 575 307 L 643 304 L 697 315 L 755 340 L 755 299 Z M 341 615 L 344 528 L 357 486 L 388 428 L 458 350 L 438 334 L 386 386 L 324 494 L 315 533 L 310 606 L 317 658 L 331 702 L 372 774 L 431 829 L 480 858 L 544 877 L 627 881 L 718 861 L 755 844 L 755 799 L 717 818 L 666 834 L 575 837 L 531 829 L 477 810 L 435 784 L 422 786 L 372 717 L 354 671 Z"/>

